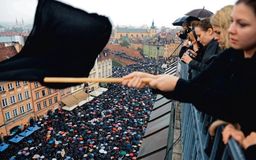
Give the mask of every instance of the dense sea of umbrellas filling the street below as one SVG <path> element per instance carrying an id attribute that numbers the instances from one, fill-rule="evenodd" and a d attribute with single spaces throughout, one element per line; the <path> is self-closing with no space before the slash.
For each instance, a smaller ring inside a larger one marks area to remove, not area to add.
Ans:
<path id="1" fill-rule="evenodd" d="M 154 70 L 155 60 L 138 62 L 113 67 L 113 77 Z M 164 71 L 159 67 L 159 72 Z M 104 87 L 108 90 L 89 103 L 72 111 L 51 113 L 14 135 L 11 141 L 3 142 L 1 159 L 136 159 L 156 95 L 147 86 L 137 90 L 121 83 L 108 83 Z"/>

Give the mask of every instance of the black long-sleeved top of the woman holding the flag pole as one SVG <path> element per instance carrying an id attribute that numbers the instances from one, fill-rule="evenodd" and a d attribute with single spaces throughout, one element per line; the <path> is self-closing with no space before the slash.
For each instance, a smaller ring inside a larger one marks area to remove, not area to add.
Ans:
<path id="1" fill-rule="evenodd" d="M 238 122 L 245 135 L 256 131 L 256 54 L 244 58 L 233 48 L 220 53 L 192 80 L 179 79 L 174 91 L 153 90 L 168 99 L 192 103 L 197 110 L 228 122 Z"/>

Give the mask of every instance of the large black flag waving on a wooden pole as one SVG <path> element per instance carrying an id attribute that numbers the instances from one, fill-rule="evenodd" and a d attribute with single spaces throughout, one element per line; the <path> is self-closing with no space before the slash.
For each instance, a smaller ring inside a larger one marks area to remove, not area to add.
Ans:
<path id="1" fill-rule="evenodd" d="M 21 52 L 0 63 L 0 80 L 39 81 L 44 77 L 88 77 L 109 40 L 109 19 L 53 0 L 39 0 L 33 29 Z"/>

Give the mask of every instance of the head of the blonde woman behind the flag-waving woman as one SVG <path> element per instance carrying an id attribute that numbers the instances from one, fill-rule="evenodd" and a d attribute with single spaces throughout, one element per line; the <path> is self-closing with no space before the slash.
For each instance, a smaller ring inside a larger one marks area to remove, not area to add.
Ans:
<path id="1" fill-rule="evenodd" d="M 233 5 L 228 5 L 217 11 L 217 13 L 211 16 L 210 23 L 213 26 L 215 32 L 214 39 L 218 41 L 222 50 L 231 47 L 229 40 L 228 28 L 231 24 L 230 15 L 233 10 Z"/>

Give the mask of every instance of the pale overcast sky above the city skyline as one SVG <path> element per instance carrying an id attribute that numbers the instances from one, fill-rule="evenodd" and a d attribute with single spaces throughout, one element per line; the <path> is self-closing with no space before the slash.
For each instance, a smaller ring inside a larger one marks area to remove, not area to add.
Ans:
<path id="1" fill-rule="evenodd" d="M 185 13 L 205 8 L 213 13 L 225 5 L 233 5 L 236 0 L 59 0 L 89 13 L 105 15 L 112 25 L 172 27 L 171 23 Z M 1 22 L 33 23 L 38 0 L 0 0 Z"/>

